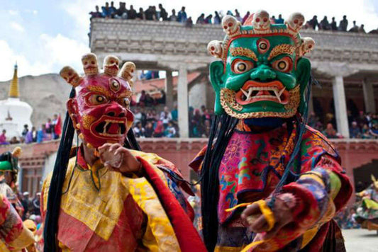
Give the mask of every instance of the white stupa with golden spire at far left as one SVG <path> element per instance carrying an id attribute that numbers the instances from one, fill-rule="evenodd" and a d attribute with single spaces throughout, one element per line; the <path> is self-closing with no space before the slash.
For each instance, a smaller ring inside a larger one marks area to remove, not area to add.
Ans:
<path id="1" fill-rule="evenodd" d="M 8 141 L 11 137 L 20 137 L 23 125 L 28 125 L 31 130 L 31 113 L 33 113 L 33 108 L 28 103 L 20 101 L 17 64 L 15 64 L 8 99 L 0 101 L 0 132 L 6 130 Z"/>

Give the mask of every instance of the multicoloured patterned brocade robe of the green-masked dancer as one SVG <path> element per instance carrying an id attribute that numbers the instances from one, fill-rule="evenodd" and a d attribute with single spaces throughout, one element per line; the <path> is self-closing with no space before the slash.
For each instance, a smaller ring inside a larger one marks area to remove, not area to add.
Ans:
<path id="1" fill-rule="evenodd" d="M 292 130 L 284 125 L 269 132 L 252 133 L 248 125 L 239 122 L 219 166 L 219 227 L 215 251 L 240 251 L 260 239 L 261 235 L 248 231 L 241 221 L 243 208 L 233 212 L 225 210 L 272 194 L 289 161 L 295 139 L 295 125 Z M 194 170 L 201 167 L 205 151 L 191 162 Z M 343 237 L 332 218 L 348 202 L 352 187 L 340 166 L 338 153 L 320 132 L 306 127 L 296 160 L 292 168 L 296 174 L 283 188 L 284 193 L 292 193 L 296 198 L 294 223 L 252 251 L 322 251 L 323 246 L 337 246 L 338 251 L 343 251 Z"/>

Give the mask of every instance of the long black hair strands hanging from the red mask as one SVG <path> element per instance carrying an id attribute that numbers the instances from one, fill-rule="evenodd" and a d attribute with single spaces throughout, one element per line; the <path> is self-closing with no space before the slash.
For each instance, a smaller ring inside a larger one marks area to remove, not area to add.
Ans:
<path id="1" fill-rule="evenodd" d="M 74 96 L 75 91 L 74 88 L 72 88 L 70 98 L 74 98 Z M 72 124 L 70 115 L 67 112 L 48 192 L 45 227 L 43 229 L 43 237 L 45 239 L 44 252 L 59 251 L 57 243 L 57 222 L 60 212 L 62 188 L 67 173 L 68 161 L 70 161 L 70 150 L 72 148 L 73 139 L 74 125 Z M 139 144 L 135 139 L 132 129 L 128 131 L 124 146 L 129 149 L 140 150 Z"/>

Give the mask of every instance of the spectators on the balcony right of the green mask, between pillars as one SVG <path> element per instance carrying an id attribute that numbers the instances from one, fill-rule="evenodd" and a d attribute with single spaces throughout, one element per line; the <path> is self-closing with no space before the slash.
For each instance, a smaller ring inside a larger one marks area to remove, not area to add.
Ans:
<path id="1" fill-rule="evenodd" d="M 349 137 L 356 139 L 377 139 L 378 138 L 378 115 L 360 111 L 358 116 L 353 116 L 348 110 Z M 326 114 L 323 124 L 315 113 L 308 118 L 308 125 L 322 132 L 330 139 L 343 138 L 344 136 L 335 130 L 335 116 L 332 113 Z"/>

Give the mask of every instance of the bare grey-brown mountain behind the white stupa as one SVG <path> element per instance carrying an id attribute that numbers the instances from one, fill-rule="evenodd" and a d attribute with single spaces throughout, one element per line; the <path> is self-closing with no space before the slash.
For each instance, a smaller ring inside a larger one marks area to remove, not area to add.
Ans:
<path id="1" fill-rule="evenodd" d="M 0 81 L 0 100 L 8 98 L 10 81 Z M 33 108 L 31 122 L 37 129 L 60 113 L 65 118 L 66 101 L 70 96 L 71 86 L 59 74 L 23 76 L 18 78 L 21 101 L 26 101 Z"/>

